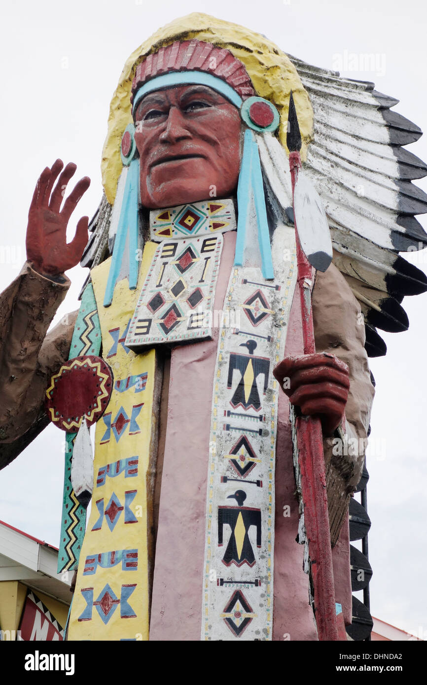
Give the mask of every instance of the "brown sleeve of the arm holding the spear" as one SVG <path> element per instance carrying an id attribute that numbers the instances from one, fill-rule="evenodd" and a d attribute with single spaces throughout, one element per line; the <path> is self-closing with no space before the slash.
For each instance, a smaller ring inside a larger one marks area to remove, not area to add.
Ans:
<path id="1" fill-rule="evenodd" d="M 352 437 L 358 438 L 361 447 L 354 454 L 352 449 L 341 449 L 341 454 L 335 455 L 332 452 L 333 438 L 324 440 L 328 510 L 334 545 L 347 512 L 350 495 L 361 479 L 375 392 L 364 347 L 365 325 L 361 308 L 334 264 L 330 265 L 326 273 L 317 272 L 313 288 L 313 324 L 316 351 L 336 355 L 350 369 L 350 391 L 345 418 L 349 432 Z"/>

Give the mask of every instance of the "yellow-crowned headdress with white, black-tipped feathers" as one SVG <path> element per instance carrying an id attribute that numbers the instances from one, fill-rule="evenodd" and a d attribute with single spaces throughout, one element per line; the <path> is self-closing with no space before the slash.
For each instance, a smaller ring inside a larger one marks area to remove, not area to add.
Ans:
<path id="1" fill-rule="evenodd" d="M 376 92 L 374 84 L 317 69 L 286 55 L 260 34 L 205 14 L 163 27 L 125 64 L 110 105 L 103 149 L 105 194 L 90 223 L 82 265 L 96 266 L 114 246 L 127 192 L 129 167 L 123 167 L 121 140 L 132 122 L 132 84 L 135 92 L 162 73 L 208 72 L 209 64 L 215 64 L 210 73 L 234 88 L 242 101 L 256 94 L 280 115 L 276 133 L 256 129 L 253 134 L 270 233 L 281 223 L 293 223 L 286 148 L 292 90 L 304 174 L 324 205 L 334 264 L 361 304 L 368 356 L 385 354 L 377 328 L 407 329 L 403 297 L 427 290 L 426 275 L 399 254 L 427 245 L 427 234 L 415 219 L 427 212 L 427 195 L 412 183 L 427 175 L 427 166 L 404 149 L 422 132 L 391 111 L 398 101 Z M 129 266 L 123 264 L 121 277 Z"/>

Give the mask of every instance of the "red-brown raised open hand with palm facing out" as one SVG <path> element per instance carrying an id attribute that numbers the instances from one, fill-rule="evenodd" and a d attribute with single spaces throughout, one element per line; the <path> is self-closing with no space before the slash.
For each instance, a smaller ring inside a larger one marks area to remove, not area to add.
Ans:
<path id="1" fill-rule="evenodd" d="M 78 221 L 75 236 L 68 245 L 66 226 L 77 203 L 90 186 L 90 179 L 85 176 L 75 184 L 61 210 L 66 186 L 77 169 L 75 164 L 70 163 L 60 174 L 63 166 L 61 160 L 56 160 L 51 169 L 48 166 L 43 169 L 28 212 L 27 260 L 42 275 L 59 275 L 72 269 L 80 262 L 88 242 L 87 216 L 82 216 Z M 53 188 L 58 174 L 60 177 Z"/>

